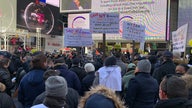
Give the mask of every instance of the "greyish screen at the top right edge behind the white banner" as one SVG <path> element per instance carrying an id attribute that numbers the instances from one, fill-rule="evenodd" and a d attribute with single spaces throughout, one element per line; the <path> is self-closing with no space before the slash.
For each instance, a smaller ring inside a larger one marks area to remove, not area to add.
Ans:
<path id="1" fill-rule="evenodd" d="M 192 0 L 180 0 L 178 12 L 178 27 L 188 23 L 187 43 L 192 39 Z"/>

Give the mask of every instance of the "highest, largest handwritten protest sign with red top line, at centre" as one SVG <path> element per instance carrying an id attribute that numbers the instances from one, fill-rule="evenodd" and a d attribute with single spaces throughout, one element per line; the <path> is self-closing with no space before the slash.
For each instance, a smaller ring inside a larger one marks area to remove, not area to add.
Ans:
<path id="1" fill-rule="evenodd" d="M 118 13 L 90 13 L 92 33 L 119 33 Z"/>

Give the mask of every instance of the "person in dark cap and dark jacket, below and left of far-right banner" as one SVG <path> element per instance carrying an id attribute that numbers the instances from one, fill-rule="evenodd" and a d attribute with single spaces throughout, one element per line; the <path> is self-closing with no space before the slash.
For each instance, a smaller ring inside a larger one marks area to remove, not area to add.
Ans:
<path id="1" fill-rule="evenodd" d="M 164 51 L 163 53 L 163 63 L 154 70 L 153 77 L 158 81 L 160 84 L 163 77 L 167 74 L 175 74 L 175 64 L 173 63 L 173 54 L 169 51 Z"/>

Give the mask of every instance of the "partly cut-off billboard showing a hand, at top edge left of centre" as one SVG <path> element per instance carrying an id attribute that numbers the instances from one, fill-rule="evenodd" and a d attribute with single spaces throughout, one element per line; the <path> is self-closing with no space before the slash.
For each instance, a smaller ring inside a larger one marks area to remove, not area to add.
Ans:
<path id="1" fill-rule="evenodd" d="M 60 12 L 89 12 L 92 0 L 60 0 Z"/>

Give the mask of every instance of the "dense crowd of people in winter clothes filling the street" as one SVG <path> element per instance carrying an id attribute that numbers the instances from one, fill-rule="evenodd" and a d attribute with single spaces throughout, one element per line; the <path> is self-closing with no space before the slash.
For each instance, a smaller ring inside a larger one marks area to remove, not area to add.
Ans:
<path id="1" fill-rule="evenodd" d="M 0 51 L 0 108 L 192 108 L 179 52 L 82 57 Z"/>

